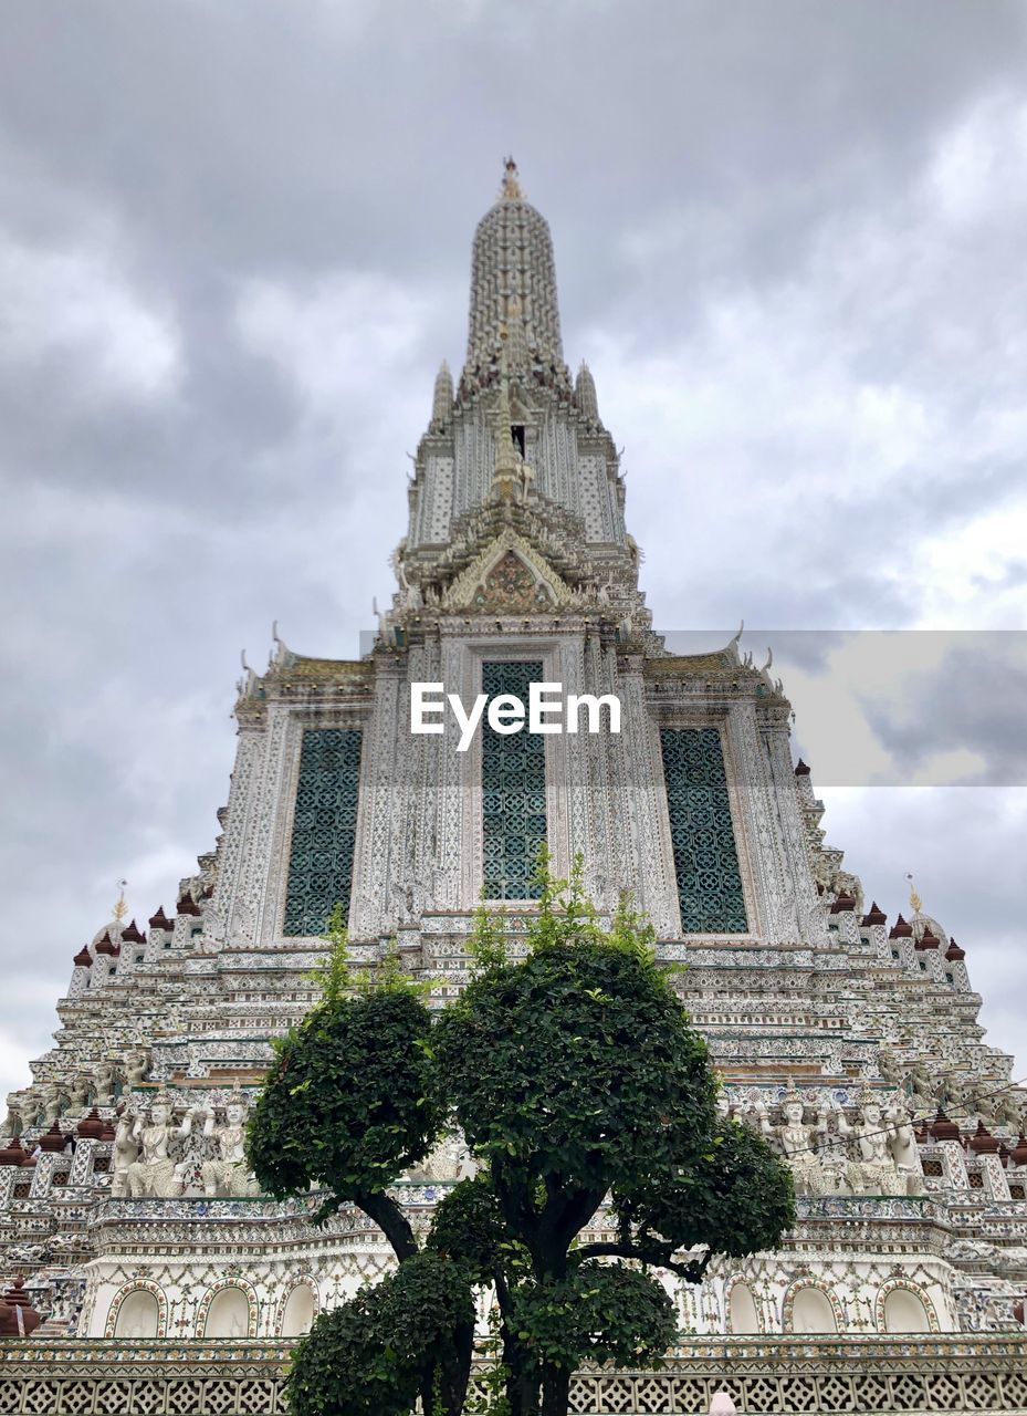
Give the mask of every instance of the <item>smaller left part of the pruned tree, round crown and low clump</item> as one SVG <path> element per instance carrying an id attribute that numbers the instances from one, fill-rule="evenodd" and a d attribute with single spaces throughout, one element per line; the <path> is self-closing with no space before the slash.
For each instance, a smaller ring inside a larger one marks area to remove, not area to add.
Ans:
<path id="1" fill-rule="evenodd" d="M 265 1192 L 310 1185 L 328 1194 L 325 1221 L 356 1205 L 386 1235 L 399 1269 L 341 1308 L 321 1314 L 287 1378 L 294 1416 L 458 1416 L 474 1338 L 471 1276 L 443 1252 L 420 1249 L 392 1182 L 422 1161 L 447 1117 L 431 1056 L 431 1015 L 398 967 L 375 974 L 347 961 L 341 909 L 318 971 L 323 997 L 277 1045 L 250 1113 L 248 1154 Z"/>

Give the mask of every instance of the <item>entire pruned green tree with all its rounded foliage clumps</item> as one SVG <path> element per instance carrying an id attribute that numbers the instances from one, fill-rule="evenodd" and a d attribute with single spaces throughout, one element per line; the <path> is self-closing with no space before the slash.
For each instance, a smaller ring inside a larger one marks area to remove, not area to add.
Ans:
<path id="1" fill-rule="evenodd" d="M 697 1283 L 716 1253 L 774 1247 L 794 1221 L 787 1167 L 717 1110 L 651 927 L 621 903 L 608 929 L 581 864 L 539 865 L 528 954 L 478 912 L 472 978 L 433 1024 L 386 960 L 355 981 L 335 954 L 324 1000 L 283 1044 L 250 1126 L 257 1178 L 359 1205 L 399 1270 L 324 1314 L 289 1379 L 297 1416 L 463 1409 L 471 1293 L 495 1286 L 509 1416 L 566 1416 L 586 1359 L 658 1364 L 673 1341 L 652 1269 Z M 338 920 L 337 920 L 338 925 Z M 424 1249 L 388 1187 L 456 1119 L 480 1161 L 437 1206 Z M 614 1238 L 581 1232 L 610 1198 Z"/>

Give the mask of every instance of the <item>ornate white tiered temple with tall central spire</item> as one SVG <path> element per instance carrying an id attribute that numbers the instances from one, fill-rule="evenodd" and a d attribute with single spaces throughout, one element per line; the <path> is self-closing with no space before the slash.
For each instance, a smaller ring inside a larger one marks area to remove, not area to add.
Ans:
<path id="1" fill-rule="evenodd" d="M 392 1260 L 364 1215 L 318 1229 L 317 1195 L 256 1192 L 245 1117 L 270 1039 L 315 1001 L 335 902 L 356 960 L 395 939 L 444 1007 L 482 889 L 516 950 L 543 841 L 560 874 L 583 854 L 601 912 L 631 891 L 659 957 L 687 964 L 723 1104 L 799 1197 L 778 1252 L 666 1274 L 666 1368 L 583 1372 L 574 1409 L 704 1412 L 721 1386 L 738 1410 L 1027 1409 L 1027 1095 L 983 1039 L 968 950 L 915 892 L 887 920 L 826 844 L 770 668 L 737 637 L 678 656 L 654 630 L 555 269 L 508 161 L 373 644 L 340 661 L 274 632 L 239 683 L 212 848 L 167 913 L 140 927 L 122 899 L 69 940 L 54 1046 L 0 1138 L 3 1410 L 280 1409 L 289 1340 Z M 470 702 L 539 681 L 615 697 L 621 731 L 485 722 L 465 752 L 450 726 L 410 731 L 412 684 Z M 472 1165 L 451 1137 L 398 1191 L 423 1219 Z"/>

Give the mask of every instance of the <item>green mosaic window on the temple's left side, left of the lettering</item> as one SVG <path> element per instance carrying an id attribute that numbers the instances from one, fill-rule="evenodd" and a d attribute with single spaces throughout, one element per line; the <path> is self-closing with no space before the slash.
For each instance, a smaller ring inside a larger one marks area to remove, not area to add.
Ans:
<path id="1" fill-rule="evenodd" d="M 308 728 L 300 749 L 286 935 L 323 935 L 337 901 L 349 909 L 359 783 L 359 728 Z"/>

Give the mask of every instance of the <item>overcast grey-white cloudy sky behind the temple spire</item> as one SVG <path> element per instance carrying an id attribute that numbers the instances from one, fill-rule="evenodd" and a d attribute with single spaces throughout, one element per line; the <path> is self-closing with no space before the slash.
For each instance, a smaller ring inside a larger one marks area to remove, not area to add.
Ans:
<path id="1" fill-rule="evenodd" d="M 784 654 L 829 838 L 1027 1072 L 1023 4 L 51 0 L 0 45 L 0 1090 L 115 881 L 209 850 L 239 650 L 358 653 L 506 152 L 658 624 L 853 632 Z"/>

